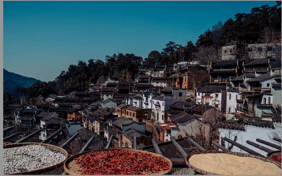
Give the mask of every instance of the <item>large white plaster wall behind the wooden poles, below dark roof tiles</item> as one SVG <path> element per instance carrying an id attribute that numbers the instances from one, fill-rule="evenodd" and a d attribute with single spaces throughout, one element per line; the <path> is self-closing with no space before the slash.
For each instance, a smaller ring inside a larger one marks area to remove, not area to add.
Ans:
<path id="1" fill-rule="evenodd" d="M 264 156 L 267 155 L 267 152 L 260 150 L 254 146 L 251 146 L 250 144 L 247 144 L 247 140 L 254 142 L 256 144 L 259 144 L 261 146 L 264 146 L 266 148 L 269 148 L 271 150 L 277 150 L 276 148 L 273 148 L 271 146 L 267 146 L 265 144 L 262 144 L 260 142 L 257 142 L 256 139 L 261 139 L 267 142 L 271 142 L 274 143 L 271 139 L 269 138 L 269 134 L 271 134 L 271 132 L 273 131 L 278 131 L 281 135 L 281 123 L 280 123 L 280 129 L 279 127 L 277 127 L 277 124 L 275 124 L 275 129 L 271 129 L 271 128 L 264 128 L 264 127 L 256 127 L 256 126 L 250 126 L 250 125 L 245 125 L 245 129 L 246 131 L 239 131 L 239 130 L 231 130 L 231 129 L 223 129 L 223 128 L 219 128 L 219 133 L 220 133 L 220 137 L 219 137 L 219 144 L 221 144 L 221 137 L 226 137 L 229 138 L 231 140 L 234 140 L 235 135 L 237 135 L 237 140 L 236 142 L 246 146 L 252 150 L 254 150 L 255 152 L 258 152 Z M 280 136 L 281 139 L 281 136 Z M 228 148 L 231 144 L 225 141 L 225 148 Z M 221 150 L 221 149 L 219 149 Z M 232 152 L 241 152 L 241 153 L 247 153 L 244 150 L 233 146 Z"/>

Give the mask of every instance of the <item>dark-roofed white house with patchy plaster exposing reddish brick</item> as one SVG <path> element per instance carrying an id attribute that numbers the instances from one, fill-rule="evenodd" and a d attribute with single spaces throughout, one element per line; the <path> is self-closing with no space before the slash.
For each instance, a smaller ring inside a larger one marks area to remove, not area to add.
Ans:
<path id="1" fill-rule="evenodd" d="M 226 86 L 204 86 L 196 92 L 196 103 L 209 105 L 225 112 L 226 110 Z"/>

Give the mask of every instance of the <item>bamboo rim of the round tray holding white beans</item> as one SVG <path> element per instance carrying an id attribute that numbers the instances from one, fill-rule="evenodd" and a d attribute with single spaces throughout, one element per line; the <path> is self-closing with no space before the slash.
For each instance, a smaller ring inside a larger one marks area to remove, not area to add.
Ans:
<path id="1" fill-rule="evenodd" d="M 13 148 L 13 147 L 20 147 L 20 146 L 25 146 L 25 145 L 42 145 L 42 146 L 45 146 L 46 148 L 49 148 L 50 150 L 54 151 L 55 152 L 60 152 L 62 154 L 64 154 L 66 156 L 66 159 L 67 159 L 67 151 L 61 147 L 58 147 L 58 146 L 54 146 L 54 145 L 50 145 L 50 144 L 43 144 L 43 143 L 37 143 L 37 142 L 24 142 L 24 143 L 13 143 L 13 144 L 6 144 L 6 145 L 3 145 L 3 148 Z M 45 173 L 45 172 L 48 172 L 48 171 L 52 171 L 54 169 L 57 169 L 58 167 L 60 167 L 61 165 L 63 165 L 64 161 L 60 162 L 60 163 L 57 163 L 56 165 L 53 165 L 53 166 L 50 166 L 50 167 L 45 167 L 45 168 L 42 168 L 42 169 L 37 169 L 37 170 L 34 170 L 34 171 L 24 171 L 23 172 L 18 172 L 18 173 L 12 173 L 12 174 L 7 174 L 7 175 L 37 175 L 37 174 L 41 174 L 41 173 Z"/>

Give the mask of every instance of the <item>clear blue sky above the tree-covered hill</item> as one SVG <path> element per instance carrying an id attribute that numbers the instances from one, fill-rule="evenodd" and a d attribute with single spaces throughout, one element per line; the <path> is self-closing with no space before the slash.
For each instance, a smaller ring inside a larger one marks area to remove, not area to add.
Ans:
<path id="1" fill-rule="evenodd" d="M 3 1 L 3 68 L 49 82 L 79 60 L 145 59 L 265 4 L 276 1 Z"/>

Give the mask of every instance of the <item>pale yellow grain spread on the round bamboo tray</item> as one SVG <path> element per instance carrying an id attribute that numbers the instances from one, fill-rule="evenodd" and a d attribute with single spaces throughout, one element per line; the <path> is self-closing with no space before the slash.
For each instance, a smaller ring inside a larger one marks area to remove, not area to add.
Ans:
<path id="1" fill-rule="evenodd" d="M 194 154 L 188 162 L 203 171 L 221 175 L 281 175 L 281 169 L 273 163 L 226 153 Z"/>

